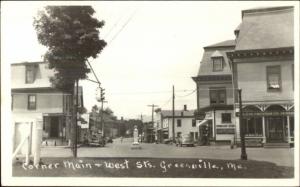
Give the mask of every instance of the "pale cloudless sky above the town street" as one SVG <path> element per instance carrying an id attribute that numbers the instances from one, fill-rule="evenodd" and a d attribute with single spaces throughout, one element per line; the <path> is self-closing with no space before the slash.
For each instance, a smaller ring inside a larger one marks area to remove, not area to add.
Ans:
<path id="1" fill-rule="evenodd" d="M 234 39 L 241 11 L 295 5 L 283 1 L 103 1 L 1 2 L 1 64 L 42 61 L 46 48 L 38 43 L 33 17 L 46 5 L 91 5 L 104 20 L 100 38 L 108 45 L 90 63 L 105 89 L 107 103 L 120 118 L 150 116 L 155 104 L 196 109 L 196 84 L 203 47 Z M 13 75 L 12 75 L 13 76 Z M 89 78 L 96 80 L 93 74 Z M 90 111 L 97 84 L 82 80 L 84 105 Z"/>

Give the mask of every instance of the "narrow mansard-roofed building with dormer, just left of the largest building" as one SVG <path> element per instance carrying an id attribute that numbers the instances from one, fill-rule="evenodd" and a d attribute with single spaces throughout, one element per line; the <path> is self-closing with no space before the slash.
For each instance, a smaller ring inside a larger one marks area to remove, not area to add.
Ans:
<path id="1" fill-rule="evenodd" d="M 208 129 L 211 142 L 229 142 L 235 135 L 232 72 L 226 56 L 234 48 L 234 40 L 204 47 L 198 75 L 193 77 L 197 86 L 197 128 L 200 137 Z"/>

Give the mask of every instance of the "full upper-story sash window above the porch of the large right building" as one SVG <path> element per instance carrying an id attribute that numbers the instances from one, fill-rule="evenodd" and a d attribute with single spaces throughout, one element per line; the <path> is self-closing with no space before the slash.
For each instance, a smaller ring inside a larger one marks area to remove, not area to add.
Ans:
<path id="1" fill-rule="evenodd" d="M 281 89 L 280 66 L 267 66 L 267 87 L 268 91 Z"/>

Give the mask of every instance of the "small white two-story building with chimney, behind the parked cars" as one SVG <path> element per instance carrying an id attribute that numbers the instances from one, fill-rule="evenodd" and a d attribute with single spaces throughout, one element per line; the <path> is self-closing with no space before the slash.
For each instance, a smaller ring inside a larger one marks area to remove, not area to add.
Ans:
<path id="1" fill-rule="evenodd" d="M 175 138 L 180 135 L 190 134 L 198 140 L 198 130 L 194 117 L 194 110 L 188 110 L 184 105 L 182 110 L 174 111 L 174 134 Z M 172 110 L 156 110 L 157 141 L 165 142 L 173 139 L 173 112 Z"/>

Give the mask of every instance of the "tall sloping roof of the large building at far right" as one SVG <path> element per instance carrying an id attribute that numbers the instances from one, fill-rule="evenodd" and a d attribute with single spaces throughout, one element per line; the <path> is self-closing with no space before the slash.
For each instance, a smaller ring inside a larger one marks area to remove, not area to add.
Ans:
<path id="1" fill-rule="evenodd" d="M 294 46 L 293 7 L 242 11 L 236 51 Z"/>

